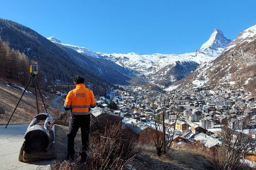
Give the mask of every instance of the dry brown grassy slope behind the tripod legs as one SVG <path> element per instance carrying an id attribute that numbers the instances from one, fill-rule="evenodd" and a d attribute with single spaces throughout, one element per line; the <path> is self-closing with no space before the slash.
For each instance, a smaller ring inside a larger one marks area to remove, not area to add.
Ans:
<path id="1" fill-rule="evenodd" d="M 11 117 L 12 111 L 14 110 L 16 104 L 18 103 L 20 96 L 23 93 L 22 86 L 19 84 L 13 84 L 0 79 L 0 105 L 5 106 L 5 114 L 0 115 L 0 124 L 6 124 Z M 15 123 L 30 123 L 31 120 L 37 115 L 36 100 L 34 95 L 34 88 L 28 88 L 27 92 L 22 97 L 14 115 L 10 121 L 10 124 Z M 48 106 L 49 113 L 61 112 L 60 108 L 52 104 L 51 99 L 55 98 L 52 94 L 43 92 L 45 104 Z M 38 92 L 39 97 L 39 92 Z M 44 107 L 41 102 L 41 97 L 39 97 L 39 111 L 45 112 Z"/>

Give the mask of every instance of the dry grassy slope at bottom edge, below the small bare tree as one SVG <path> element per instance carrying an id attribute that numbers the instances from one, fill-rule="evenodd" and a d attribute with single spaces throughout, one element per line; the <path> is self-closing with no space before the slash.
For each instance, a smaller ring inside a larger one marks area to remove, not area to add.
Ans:
<path id="1" fill-rule="evenodd" d="M 142 152 L 135 157 L 137 170 L 214 170 L 214 164 L 202 150 L 194 150 L 190 146 L 172 146 L 167 155 L 158 157 L 154 145 L 143 145 Z"/>

